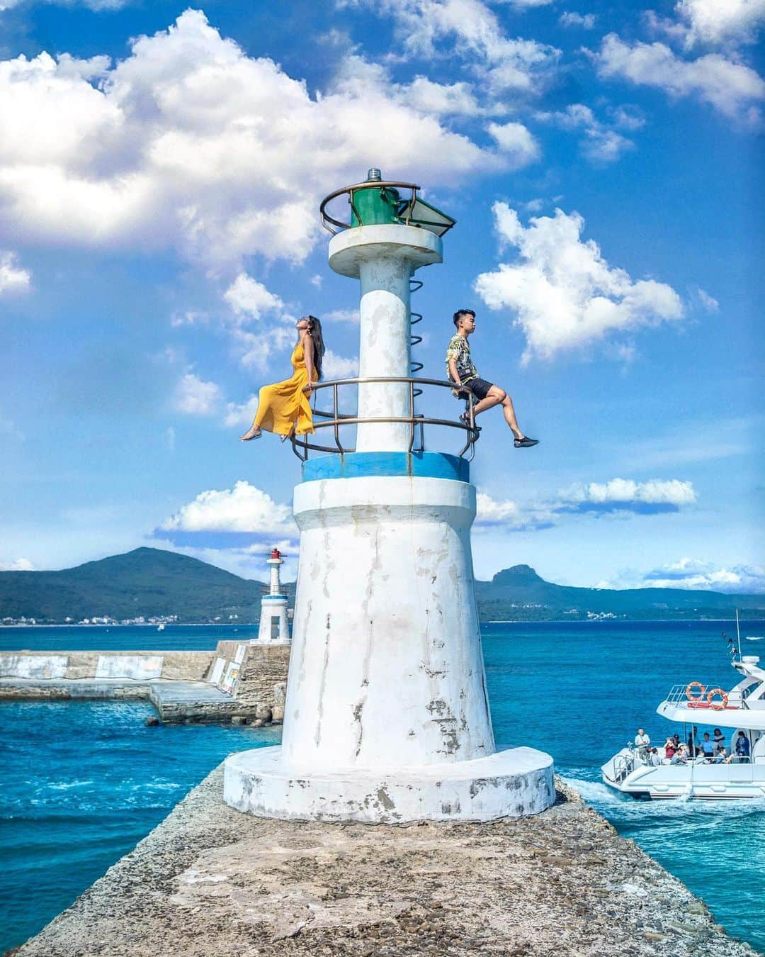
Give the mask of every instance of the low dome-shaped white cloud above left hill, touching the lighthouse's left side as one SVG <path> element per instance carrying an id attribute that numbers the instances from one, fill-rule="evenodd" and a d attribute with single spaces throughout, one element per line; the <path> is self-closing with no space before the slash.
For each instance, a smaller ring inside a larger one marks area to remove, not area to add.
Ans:
<path id="1" fill-rule="evenodd" d="M 289 505 L 279 504 L 248 481 L 232 489 L 200 492 L 160 525 L 168 532 L 248 532 L 295 537 Z"/>

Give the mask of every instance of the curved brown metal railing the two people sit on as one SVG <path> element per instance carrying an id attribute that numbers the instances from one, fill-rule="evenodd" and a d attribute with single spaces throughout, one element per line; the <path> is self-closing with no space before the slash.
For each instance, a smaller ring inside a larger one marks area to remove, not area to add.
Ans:
<path id="1" fill-rule="evenodd" d="M 342 386 L 358 386 L 360 383 L 378 382 L 378 383 L 406 383 L 409 387 L 409 414 L 400 416 L 359 416 L 348 415 L 339 411 L 339 389 Z M 468 403 L 468 423 L 461 419 L 428 418 L 425 415 L 417 414 L 414 411 L 415 397 L 420 394 L 422 386 L 436 386 L 441 389 L 454 389 L 453 382 L 444 382 L 441 379 L 420 379 L 411 376 L 390 377 L 390 376 L 365 376 L 356 379 L 334 379 L 329 382 L 319 382 L 314 387 L 314 402 L 316 405 L 317 392 L 322 389 L 331 389 L 332 411 L 314 409 L 314 430 L 315 433 L 321 429 L 331 429 L 334 445 L 319 445 L 311 441 L 311 435 L 293 435 L 293 451 L 298 458 L 305 461 L 308 458 L 309 451 L 312 452 L 330 452 L 347 453 L 355 452 L 356 447 L 345 444 L 340 437 L 340 429 L 345 426 L 359 425 L 367 422 L 401 422 L 409 426 L 409 447 L 408 452 L 425 452 L 425 427 L 445 426 L 448 429 L 459 429 L 465 434 L 465 445 L 462 447 L 458 456 L 462 458 L 470 451 L 470 459 L 475 451 L 475 442 L 478 440 L 478 429 L 475 426 L 475 413 L 473 407 L 475 397 L 471 392 L 466 392 L 465 397 Z M 317 421 L 317 419 L 319 421 Z"/>

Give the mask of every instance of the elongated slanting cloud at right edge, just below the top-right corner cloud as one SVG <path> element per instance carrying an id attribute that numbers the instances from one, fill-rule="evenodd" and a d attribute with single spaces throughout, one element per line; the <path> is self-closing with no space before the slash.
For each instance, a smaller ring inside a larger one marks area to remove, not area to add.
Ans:
<path id="1" fill-rule="evenodd" d="M 630 46 L 609 33 L 595 61 L 602 78 L 653 86 L 674 98 L 698 97 L 729 117 L 755 122 L 759 111 L 754 104 L 765 98 L 765 82 L 754 70 L 720 54 L 685 60 L 664 43 Z"/>

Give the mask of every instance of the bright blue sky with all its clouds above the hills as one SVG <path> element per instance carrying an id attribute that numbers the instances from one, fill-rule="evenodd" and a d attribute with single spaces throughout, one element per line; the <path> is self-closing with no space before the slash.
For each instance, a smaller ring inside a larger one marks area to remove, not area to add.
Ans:
<path id="1" fill-rule="evenodd" d="M 299 463 L 237 438 L 300 315 L 355 371 L 317 204 L 376 165 L 458 220 L 418 274 L 423 374 L 473 307 L 480 373 L 541 438 L 484 417 L 478 576 L 765 589 L 763 22 L 761 0 L 0 0 L 0 566 L 155 545 L 263 577 Z"/>

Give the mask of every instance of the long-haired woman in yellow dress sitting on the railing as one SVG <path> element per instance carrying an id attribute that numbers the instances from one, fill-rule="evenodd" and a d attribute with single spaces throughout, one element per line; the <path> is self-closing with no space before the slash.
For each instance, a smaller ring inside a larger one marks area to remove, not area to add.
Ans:
<path id="1" fill-rule="evenodd" d="M 241 436 L 243 442 L 260 438 L 263 429 L 281 435 L 282 442 L 293 433 L 313 433 L 311 390 L 321 378 L 323 357 L 321 323 L 316 316 L 303 316 L 297 322 L 297 345 L 290 359 L 292 377 L 260 389 L 257 412 L 251 428 Z"/>

